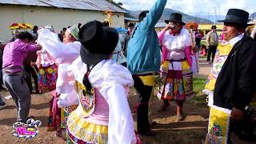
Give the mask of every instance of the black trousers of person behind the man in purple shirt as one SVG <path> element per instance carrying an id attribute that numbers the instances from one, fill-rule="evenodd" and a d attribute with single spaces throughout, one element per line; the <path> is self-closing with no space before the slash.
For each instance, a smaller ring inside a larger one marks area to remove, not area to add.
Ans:
<path id="1" fill-rule="evenodd" d="M 31 76 L 34 79 L 34 89 L 38 92 L 38 75 L 34 71 L 34 68 L 30 65 L 26 65 L 24 66 L 24 70 L 26 70 L 26 73 L 28 74 L 28 77 L 26 78 L 26 82 L 30 88 L 30 92 L 33 90 Z M 36 68 L 36 70 L 38 71 L 38 68 Z"/>

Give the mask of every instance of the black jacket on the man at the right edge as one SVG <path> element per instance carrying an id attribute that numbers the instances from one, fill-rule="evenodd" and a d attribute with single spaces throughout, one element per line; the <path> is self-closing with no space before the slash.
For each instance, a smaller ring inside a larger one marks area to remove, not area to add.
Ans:
<path id="1" fill-rule="evenodd" d="M 230 51 L 214 89 L 214 105 L 244 110 L 256 91 L 256 42 L 238 41 Z"/>

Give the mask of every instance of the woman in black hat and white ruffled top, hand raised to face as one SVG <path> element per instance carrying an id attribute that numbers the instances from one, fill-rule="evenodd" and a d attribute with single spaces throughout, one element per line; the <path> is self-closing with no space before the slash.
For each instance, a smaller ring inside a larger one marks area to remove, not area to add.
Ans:
<path id="1" fill-rule="evenodd" d="M 164 107 L 170 104 L 167 100 L 174 99 L 177 103 L 177 119 L 182 120 L 183 102 L 193 92 L 192 60 L 190 32 L 184 28 L 182 14 L 172 13 L 166 20 L 167 26 L 158 34 L 162 43 L 162 66 L 160 68 L 160 82 L 158 98 L 164 100 Z"/>

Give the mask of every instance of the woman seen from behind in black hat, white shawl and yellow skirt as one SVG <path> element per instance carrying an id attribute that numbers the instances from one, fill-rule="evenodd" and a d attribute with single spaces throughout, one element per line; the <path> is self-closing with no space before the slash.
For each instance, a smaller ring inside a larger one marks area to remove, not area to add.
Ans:
<path id="1" fill-rule="evenodd" d="M 126 67 L 110 60 L 118 32 L 102 22 L 88 22 L 79 31 L 79 42 L 81 57 L 71 66 L 79 106 L 67 120 L 68 142 L 136 143 L 127 101 L 134 81 Z M 72 98 L 66 98 L 66 103 L 77 99 Z"/>

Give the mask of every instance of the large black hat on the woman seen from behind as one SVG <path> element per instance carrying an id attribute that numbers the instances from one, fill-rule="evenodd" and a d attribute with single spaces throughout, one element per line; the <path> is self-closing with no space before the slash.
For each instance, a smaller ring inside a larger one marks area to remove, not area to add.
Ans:
<path id="1" fill-rule="evenodd" d="M 110 58 L 118 44 L 118 32 L 112 27 L 103 26 L 102 22 L 86 23 L 79 30 L 81 42 L 80 56 L 87 65 L 96 65 L 103 59 Z"/>

